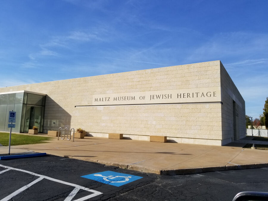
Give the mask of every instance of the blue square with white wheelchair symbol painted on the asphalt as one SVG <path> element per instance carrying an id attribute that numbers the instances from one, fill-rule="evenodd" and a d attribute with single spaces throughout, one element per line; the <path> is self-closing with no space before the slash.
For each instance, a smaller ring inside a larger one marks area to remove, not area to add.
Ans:
<path id="1" fill-rule="evenodd" d="M 97 172 L 94 174 L 87 174 L 81 177 L 92 179 L 92 180 L 99 181 L 99 182 L 113 185 L 113 186 L 123 186 L 127 183 L 130 183 L 130 182 L 133 182 L 135 180 L 142 178 L 142 177 L 135 176 L 132 174 L 124 174 L 124 173 L 113 172 L 113 171 Z"/>

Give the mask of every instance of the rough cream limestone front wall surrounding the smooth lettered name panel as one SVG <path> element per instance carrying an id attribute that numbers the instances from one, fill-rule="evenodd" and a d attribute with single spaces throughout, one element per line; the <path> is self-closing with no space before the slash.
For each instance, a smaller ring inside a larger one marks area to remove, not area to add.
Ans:
<path id="1" fill-rule="evenodd" d="M 232 135 L 228 126 L 231 122 L 230 98 L 223 99 L 223 102 L 228 102 L 226 105 L 220 102 L 115 106 L 92 104 L 93 95 L 99 94 L 221 87 L 221 74 L 226 76 L 220 61 L 212 61 L 0 88 L 0 92 L 27 90 L 47 94 L 45 131 L 57 130 L 58 127 L 81 127 L 94 136 L 123 133 L 124 137 L 131 139 L 149 140 L 149 135 L 161 135 L 167 136 L 170 141 L 221 145 L 222 139 Z M 228 79 L 230 84 L 231 80 Z M 226 89 L 223 93 L 226 94 Z M 240 98 L 238 91 L 234 90 L 234 94 Z M 240 102 L 244 104 L 244 100 Z M 225 114 L 223 117 L 222 112 Z M 242 113 L 244 106 L 239 110 L 240 116 Z M 239 119 L 240 124 L 238 130 L 242 136 L 244 124 Z"/>

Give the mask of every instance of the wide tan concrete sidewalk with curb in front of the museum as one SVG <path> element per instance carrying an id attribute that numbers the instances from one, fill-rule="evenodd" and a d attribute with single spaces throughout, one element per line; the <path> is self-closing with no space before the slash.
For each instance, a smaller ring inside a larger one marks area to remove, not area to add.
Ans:
<path id="1" fill-rule="evenodd" d="M 72 139 L 58 141 L 53 138 L 48 142 L 12 146 L 11 153 L 46 152 L 123 169 L 166 175 L 268 167 L 268 151 L 242 148 L 248 141 L 236 141 L 223 147 L 98 137 L 75 138 L 74 142 Z M 258 141 L 251 143 L 258 144 Z M 0 147 L 0 154 L 7 152 L 8 147 Z"/>

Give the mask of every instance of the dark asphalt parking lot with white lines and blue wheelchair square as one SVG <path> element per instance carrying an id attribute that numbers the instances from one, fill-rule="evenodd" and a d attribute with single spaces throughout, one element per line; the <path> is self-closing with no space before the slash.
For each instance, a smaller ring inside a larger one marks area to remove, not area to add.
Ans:
<path id="1" fill-rule="evenodd" d="M 1 160 L 0 189 L 1 200 L 232 200 L 267 192 L 268 168 L 165 176 L 48 155 Z"/>

